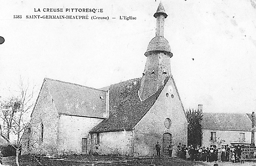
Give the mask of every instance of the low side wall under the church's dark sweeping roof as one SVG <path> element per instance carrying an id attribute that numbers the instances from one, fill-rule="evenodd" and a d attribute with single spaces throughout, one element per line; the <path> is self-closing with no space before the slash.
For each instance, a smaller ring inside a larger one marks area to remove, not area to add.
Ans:
<path id="1" fill-rule="evenodd" d="M 113 131 L 99 133 L 100 142 L 97 144 L 96 133 L 93 134 L 93 153 L 100 155 L 131 155 L 132 131 Z"/>

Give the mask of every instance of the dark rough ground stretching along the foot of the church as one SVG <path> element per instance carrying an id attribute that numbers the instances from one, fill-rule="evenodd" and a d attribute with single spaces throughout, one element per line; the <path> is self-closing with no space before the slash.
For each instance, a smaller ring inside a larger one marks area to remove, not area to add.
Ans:
<path id="1" fill-rule="evenodd" d="M 71 156 L 63 158 L 42 157 L 32 162 L 32 157 L 21 156 L 21 166 L 208 166 L 205 162 L 187 161 L 169 157 L 128 158 L 110 156 Z M 3 164 L 15 165 L 15 157 L 4 157 Z M 213 165 L 214 163 L 211 163 Z"/>

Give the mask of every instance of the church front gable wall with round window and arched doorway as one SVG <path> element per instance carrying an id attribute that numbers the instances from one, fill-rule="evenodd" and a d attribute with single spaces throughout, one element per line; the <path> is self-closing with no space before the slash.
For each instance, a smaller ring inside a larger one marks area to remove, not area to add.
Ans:
<path id="1" fill-rule="evenodd" d="M 173 87 L 173 93 L 168 92 L 169 85 Z M 170 129 L 164 125 L 166 118 L 172 121 Z M 134 152 L 141 156 L 155 155 L 155 144 L 158 141 L 162 145 L 164 133 L 172 134 L 176 146 L 179 143 L 187 144 L 187 120 L 172 78 L 166 83 L 155 104 L 135 126 Z"/>

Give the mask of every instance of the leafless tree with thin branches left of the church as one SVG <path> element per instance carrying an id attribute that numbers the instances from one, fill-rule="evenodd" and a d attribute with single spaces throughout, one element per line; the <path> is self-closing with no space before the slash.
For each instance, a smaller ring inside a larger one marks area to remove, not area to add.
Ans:
<path id="1" fill-rule="evenodd" d="M 18 97 L 12 97 L 8 101 L 2 102 L 1 116 L 2 124 L 0 123 L 0 135 L 7 140 L 16 149 L 16 165 L 19 166 L 19 153 L 22 147 L 23 133 L 29 126 L 30 116 L 29 111 L 33 106 L 31 99 L 33 97 L 34 87 L 30 90 L 29 83 L 24 84 L 24 79 L 20 79 Z M 10 141 L 10 133 L 15 134 L 15 144 Z"/>

